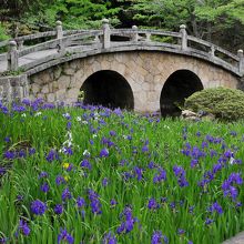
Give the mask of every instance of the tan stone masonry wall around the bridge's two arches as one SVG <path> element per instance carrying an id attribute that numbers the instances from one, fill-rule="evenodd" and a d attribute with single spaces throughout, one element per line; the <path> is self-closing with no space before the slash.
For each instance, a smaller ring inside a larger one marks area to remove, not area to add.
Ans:
<path id="1" fill-rule="evenodd" d="M 78 100 L 83 82 L 94 72 L 119 72 L 131 85 L 135 111 L 159 111 L 160 95 L 167 78 L 177 70 L 194 72 L 204 88 L 227 87 L 236 89 L 238 78 L 205 61 L 162 52 L 104 53 L 73 60 L 31 75 L 30 98 L 48 102 Z"/>

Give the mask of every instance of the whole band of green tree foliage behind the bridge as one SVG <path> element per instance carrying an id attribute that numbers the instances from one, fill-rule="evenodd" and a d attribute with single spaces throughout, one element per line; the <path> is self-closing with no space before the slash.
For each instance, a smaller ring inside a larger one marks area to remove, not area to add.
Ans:
<path id="1" fill-rule="evenodd" d="M 100 28 L 108 18 L 114 28 L 159 28 L 190 34 L 236 52 L 243 48 L 244 0 L 1 0 L 0 40 L 54 27 Z"/>

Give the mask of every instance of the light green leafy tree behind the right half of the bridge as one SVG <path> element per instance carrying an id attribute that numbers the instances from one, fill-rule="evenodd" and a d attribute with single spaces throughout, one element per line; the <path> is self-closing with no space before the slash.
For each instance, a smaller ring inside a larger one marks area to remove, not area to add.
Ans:
<path id="1" fill-rule="evenodd" d="M 242 44 L 244 0 L 138 0 L 133 9 L 142 26 L 177 31 L 185 23 L 187 32 L 197 38 L 230 47 L 225 37 L 231 34 L 236 47 Z"/>

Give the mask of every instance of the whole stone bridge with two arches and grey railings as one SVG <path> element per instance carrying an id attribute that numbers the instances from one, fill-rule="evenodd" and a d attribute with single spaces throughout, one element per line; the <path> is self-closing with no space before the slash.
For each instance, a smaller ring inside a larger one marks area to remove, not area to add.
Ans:
<path id="1" fill-rule="evenodd" d="M 38 41 L 38 43 L 37 43 Z M 35 43 L 34 43 L 35 42 Z M 34 44 L 33 44 L 34 43 Z M 28 44 L 28 45 L 27 45 Z M 243 88 L 244 57 L 180 32 L 111 29 L 57 30 L 0 42 L 0 99 L 43 98 L 162 114 L 177 112 L 193 92 Z"/>

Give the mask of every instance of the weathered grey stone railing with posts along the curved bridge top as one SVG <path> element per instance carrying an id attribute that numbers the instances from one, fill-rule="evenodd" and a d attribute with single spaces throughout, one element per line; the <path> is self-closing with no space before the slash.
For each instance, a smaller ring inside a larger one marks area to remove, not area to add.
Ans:
<path id="1" fill-rule="evenodd" d="M 26 41 L 43 38 L 50 40 L 31 47 L 24 47 Z M 222 65 L 224 69 L 240 77 L 244 75 L 243 50 L 238 50 L 237 54 L 233 54 L 211 42 L 189 35 L 184 24 L 180 26 L 179 32 L 140 30 L 135 26 L 132 29 L 111 29 L 109 20 L 104 19 L 101 30 L 63 31 L 61 21 L 57 21 L 54 31 L 19 37 L 11 41 L 0 42 L 0 48 L 7 45 L 9 45 L 9 51 L 0 54 L 0 61 L 8 62 L 9 71 L 16 71 L 19 68 L 27 71 L 67 54 L 80 53 L 88 50 L 109 51 L 116 48 L 121 48 L 122 50 L 123 47 L 157 47 L 162 51 L 203 58 Z M 54 50 L 54 52 L 44 58 L 37 59 L 31 63 L 19 64 L 20 58 L 42 50 Z"/>

